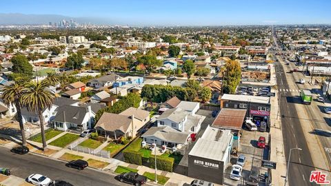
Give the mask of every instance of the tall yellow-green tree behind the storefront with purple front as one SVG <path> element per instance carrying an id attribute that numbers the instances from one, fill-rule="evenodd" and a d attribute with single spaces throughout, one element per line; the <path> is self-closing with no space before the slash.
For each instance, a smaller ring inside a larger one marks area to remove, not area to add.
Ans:
<path id="1" fill-rule="evenodd" d="M 223 76 L 223 93 L 234 94 L 241 80 L 241 67 L 238 61 L 227 61 Z"/>

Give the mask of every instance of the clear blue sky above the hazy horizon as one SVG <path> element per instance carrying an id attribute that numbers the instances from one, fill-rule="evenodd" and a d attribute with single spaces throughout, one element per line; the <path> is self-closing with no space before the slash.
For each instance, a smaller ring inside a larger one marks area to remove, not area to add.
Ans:
<path id="1" fill-rule="evenodd" d="M 270 3 L 272 2 L 272 3 Z M 10 0 L 0 13 L 61 14 L 128 25 L 331 23 L 328 0 Z"/>

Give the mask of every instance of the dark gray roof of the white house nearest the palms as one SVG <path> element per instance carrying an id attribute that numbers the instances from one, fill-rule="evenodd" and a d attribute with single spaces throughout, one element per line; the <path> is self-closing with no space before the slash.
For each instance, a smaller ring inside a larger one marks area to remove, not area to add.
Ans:
<path id="1" fill-rule="evenodd" d="M 57 115 L 52 121 L 81 124 L 87 113 L 88 111 L 86 110 L 86 107 L 62 105 L 57 108 Z"/>

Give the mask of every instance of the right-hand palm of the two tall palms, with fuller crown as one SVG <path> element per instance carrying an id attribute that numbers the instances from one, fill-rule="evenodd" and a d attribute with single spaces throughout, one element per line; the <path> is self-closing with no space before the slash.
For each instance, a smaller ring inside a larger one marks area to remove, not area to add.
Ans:
<path id="1" fill-rule="evenodd" d="M 43 120 L 43 110 L 52 107 L 54 93 L 47 89 L 48 82 L 30 82 L 24 85 L 24 94 L 21 97 L 23 105 L 31 112 L 36 112 L 39 116 L 41 138 L 43 141 L 43 150 L 46 150 L 46 137 Z"/>

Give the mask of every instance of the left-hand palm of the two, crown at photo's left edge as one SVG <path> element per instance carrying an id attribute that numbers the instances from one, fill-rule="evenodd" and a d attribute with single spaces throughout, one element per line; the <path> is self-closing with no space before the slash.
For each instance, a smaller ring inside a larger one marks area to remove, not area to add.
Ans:
<path id="1" fill-rule="evenodd" d="M 21 96 L 23 95 L 23 86 L 17 83 L 12 85 L 8 85 L 3 88 L 3 94 L 1 99 L 3 103 L 6 105 L 15 105 L 17 110 L 17 116 L 19 116 L 19 129 L 21 130 L 22 136 L 22 145 L 26 146 L 26 133 L 24 132 L 24 125 L 22 121 L 22 113 L 21 113 Z"/>

